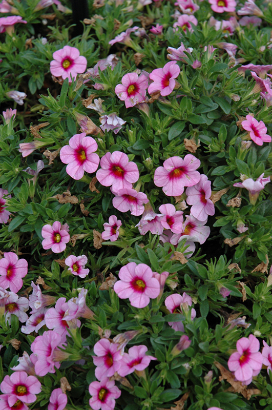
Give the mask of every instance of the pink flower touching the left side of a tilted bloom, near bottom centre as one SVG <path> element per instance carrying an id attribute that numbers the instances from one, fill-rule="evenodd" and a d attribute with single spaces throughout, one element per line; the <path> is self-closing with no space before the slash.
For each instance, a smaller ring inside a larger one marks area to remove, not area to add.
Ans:
<path id="1" fill-rule="evenodd" d="M 117 343 L 111 343 L 108 339 L 101 339 L 94 345 L 93 356 L 95 369 L 95 377 L 102 380 L 104 377 L 111 377 L 121 367 L 122 356 L 118 350 Z"/>

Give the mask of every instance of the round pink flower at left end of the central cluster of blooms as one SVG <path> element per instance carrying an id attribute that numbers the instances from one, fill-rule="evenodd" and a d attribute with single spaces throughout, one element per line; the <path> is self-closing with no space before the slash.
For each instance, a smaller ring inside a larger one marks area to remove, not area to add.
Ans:
<path id="1" fill-rule="evenodd" d="M 81 179 L 84 171 L 92 174 L 99 165 L 99 156 L 96 141 L 92 137 L 86 137 L 85 132 L 75 134 L 70 138 L 69 145 L 60 150 L 60 159 L 68 163 L 66 172 L 74 179 Z"/>

